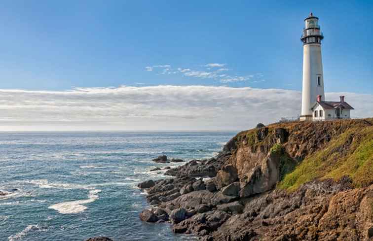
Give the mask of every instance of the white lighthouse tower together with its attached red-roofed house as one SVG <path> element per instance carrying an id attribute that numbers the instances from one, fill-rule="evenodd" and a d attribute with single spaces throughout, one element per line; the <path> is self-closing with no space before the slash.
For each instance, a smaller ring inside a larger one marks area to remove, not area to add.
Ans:
<path id="1" fill-rule="evenodd" d="M 302 106 L 300 121 L 323 121 L 350 118 L 354 109 L 340 96 L 339 102 L 325 101 L 324 73 L 321 59 L 321 41 L 319 18 L 312 13 L 304 19 L 303 34 L 303 80 Z"/>

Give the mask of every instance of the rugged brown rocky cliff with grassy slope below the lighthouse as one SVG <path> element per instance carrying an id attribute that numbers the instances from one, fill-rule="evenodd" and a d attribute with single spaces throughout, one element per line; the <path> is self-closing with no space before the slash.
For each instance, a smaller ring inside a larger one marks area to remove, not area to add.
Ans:
<path id="1" fill-rule="evenodd" d="M 147 182 L 153 207 L 140 218 L 171 222 L 176 233 L 205 241 L 373 241 L 373 119 L 244 131 L 216 158 L 168 174 Z"/>

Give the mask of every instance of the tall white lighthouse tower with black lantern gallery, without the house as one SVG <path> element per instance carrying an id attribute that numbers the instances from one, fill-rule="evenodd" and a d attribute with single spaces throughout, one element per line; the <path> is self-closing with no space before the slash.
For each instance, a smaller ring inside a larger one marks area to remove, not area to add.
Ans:
<path id="1" fill-rule="evenodd" d="M 317 96 L 325 100 L 323 63 L 321 61 L 321 40 L 324 38 L 318 24 L 319 18 L 309 14 L 304 19 L 304 29 L 301 36 L 303 42 L 303 82 L 302 108 L 300 121 L 312 120 L 312 105 Z"/>

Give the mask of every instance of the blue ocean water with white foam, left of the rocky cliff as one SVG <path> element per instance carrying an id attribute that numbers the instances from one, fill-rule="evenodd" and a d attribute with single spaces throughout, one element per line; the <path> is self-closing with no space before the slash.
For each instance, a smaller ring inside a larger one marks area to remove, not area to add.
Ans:
<path id="1" fill-rule="evenodd" d="M 0 241 L 186 241 L 149 224 L 137 184 L 169 178 L 151 161 L 215 156 L 233 132 L 0 133 Z"/>

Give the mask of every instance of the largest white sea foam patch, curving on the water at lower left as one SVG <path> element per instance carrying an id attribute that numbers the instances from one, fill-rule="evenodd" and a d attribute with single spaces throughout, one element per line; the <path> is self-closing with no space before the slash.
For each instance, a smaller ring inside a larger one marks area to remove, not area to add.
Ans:
<path id="1" fill-rule="evenodd" d="M 101 190 L 94 189 L 89 191 L 88 199 L 59 203 L 49 206 L 49 208 L 55 209 L 62 214 L 79 213 L 87 209 L 83 204 L 93 203 L 99 198 L 97 195 L 99 192 L 101 192 Z"/>

